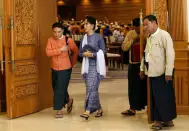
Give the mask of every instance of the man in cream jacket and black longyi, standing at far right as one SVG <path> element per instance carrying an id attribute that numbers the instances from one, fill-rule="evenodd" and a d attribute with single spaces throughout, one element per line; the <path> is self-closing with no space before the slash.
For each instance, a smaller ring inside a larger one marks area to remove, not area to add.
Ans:
<path id="1" fill-rule="evenodd" d="M 153 15 L 144 17 L 144 30 L 149 33 L 145 55 L 141 62 L 140 75 L 144 77 L 145 67 L 151 86 L 151 120 L 153 129 L 174 126 L 176 103 L 173 88 L 175 52 L 168 32 L 158 27 Z M 145 66 L 146 65 L 146 66 Z"/>

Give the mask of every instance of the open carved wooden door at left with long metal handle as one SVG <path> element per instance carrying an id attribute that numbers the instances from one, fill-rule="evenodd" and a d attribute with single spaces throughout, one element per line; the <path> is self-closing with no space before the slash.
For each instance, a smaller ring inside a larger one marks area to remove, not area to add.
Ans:
<path id="1" fill-rule="evenodd" d="M 41 92 L 44 84 L 40 83 L 40 24 L 39 17 L 47 18 L 48 11 L 40 14 L 40 4 L 43 0 L 5 0 L 4 1 L 4 51 L 7 115 L 16 118 L 37 112 L 49 105 L 41 103 L 49 96 Z M 45 1 L 49 5 L 50 0 Z M 52 3 L 52 2 L 51 2 Z M 56 3 L 54 1 L 53 3 Z M 51 4 L 56 6 L 56 4 Z M 55 8 L 55 7 L 53 7 Z M 48 7 L 45 8 L 48 10 Z M 51 8 L 50 8 L 51 9 Z M 54 10 L 52 10 L 54 12 Z M 54 18 L 55 20 L 55 14 Z M 44 22 L 44 21 L 43 21 Z M 43 26 L 41 24 L 41 26 Z M 51 28 L 43 26 L 43 28 Z M 44 54 L 43 54 L 44 55 Z M 43 60 L 41 60 L 43 61 Z M 47 65 L 48 66 L 48 65 Z M 48 72 L 48 71 L 47 71 Z M 45 76 L 44 74 L 43 77 Z M 47 82 L 48 83 L 48 82 Z M 46 103 L 51 99 L 47 100 Z M 41 106 L 43 105 L 43 106 Z"/>

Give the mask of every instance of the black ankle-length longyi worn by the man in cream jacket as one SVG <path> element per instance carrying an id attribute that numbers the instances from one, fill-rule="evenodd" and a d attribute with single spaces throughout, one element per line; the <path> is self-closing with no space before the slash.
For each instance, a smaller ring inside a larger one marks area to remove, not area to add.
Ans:
<path id="1" fill-rule="evenodd" d="M 162 75 L 150 77 L 150 83 L 152 121 L 171 121 L 176 118 L 173 81 L 166 82 L 165 75 Z"/>

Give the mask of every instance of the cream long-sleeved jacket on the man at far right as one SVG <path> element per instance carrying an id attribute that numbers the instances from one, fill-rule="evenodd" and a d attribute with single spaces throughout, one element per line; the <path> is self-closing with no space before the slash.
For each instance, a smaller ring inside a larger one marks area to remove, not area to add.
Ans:
<path id="1" fill-rule="evenodd" d="M 168 32 L 158 28 L 149 38 L 145 48 L 145 61 L 149 68 L 147 75 L 157 77 L 163 74 L 172 76 L 175 60 L 173 40 Z M 141 62 L 141 71 L 144 71 L 144 59 Z"/>

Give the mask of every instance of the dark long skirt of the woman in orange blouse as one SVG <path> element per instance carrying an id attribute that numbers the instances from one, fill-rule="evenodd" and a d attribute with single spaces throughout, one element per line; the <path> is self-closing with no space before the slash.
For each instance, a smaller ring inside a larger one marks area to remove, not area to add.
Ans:
<path id="1" fill-rule="evenodd" d="M 52 69 L 52 86 L 54 91 L 54 110 L 61 110 L 69 101 L 68 85 L 72 68 L 56 71 Z"/>

